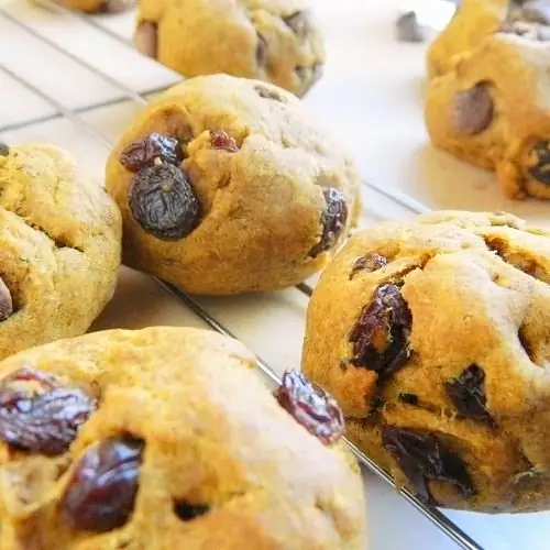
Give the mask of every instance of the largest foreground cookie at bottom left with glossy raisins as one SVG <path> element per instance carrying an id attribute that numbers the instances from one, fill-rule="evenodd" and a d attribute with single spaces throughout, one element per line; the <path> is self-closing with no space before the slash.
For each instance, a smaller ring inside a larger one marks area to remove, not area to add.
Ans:
<path id="1" fill-rule="evenodd" d="M 275 398 L 253 365 L 166 327 L 2 362 L 1 548 L 364 550 L 341 411 L 297 373 Z"/>

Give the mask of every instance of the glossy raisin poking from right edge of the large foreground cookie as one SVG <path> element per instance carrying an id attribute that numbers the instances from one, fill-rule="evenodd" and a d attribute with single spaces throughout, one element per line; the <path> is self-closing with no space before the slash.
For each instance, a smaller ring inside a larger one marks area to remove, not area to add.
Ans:
<path id="1" fill-rule="evenodd" d="M 344 419 L 337 402 L 302 374 L 287 371 L 275 397 L 286 411 L 323 443 L 334 443 L 342 437 Z"/>

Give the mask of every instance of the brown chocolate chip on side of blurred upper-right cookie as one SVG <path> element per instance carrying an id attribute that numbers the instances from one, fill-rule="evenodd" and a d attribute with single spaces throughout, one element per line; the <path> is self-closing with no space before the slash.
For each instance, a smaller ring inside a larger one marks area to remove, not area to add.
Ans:
<path id="1" fill-rule="evenodd" d="M 481 134 L 491 124 L 493 113 L 493 99 L 485 82 L 459 91 L 454 97 L 453 127 L 462 135 Z"/>

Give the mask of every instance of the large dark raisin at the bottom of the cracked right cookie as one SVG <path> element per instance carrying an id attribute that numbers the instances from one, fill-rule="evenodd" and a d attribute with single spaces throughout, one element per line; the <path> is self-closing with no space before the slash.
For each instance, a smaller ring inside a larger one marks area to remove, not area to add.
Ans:
<path id="1" fill-rule="evenodd" d="M 463 498 L 475 495 L 475 487 L 462 459 L 446 449 L 436 437 L 386 426 L 382 429 L 382 443 L 399 464 L 421 502 L 438 504 L 430 494 L 429 481 L 454 485 Z"/>

